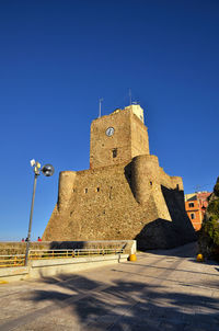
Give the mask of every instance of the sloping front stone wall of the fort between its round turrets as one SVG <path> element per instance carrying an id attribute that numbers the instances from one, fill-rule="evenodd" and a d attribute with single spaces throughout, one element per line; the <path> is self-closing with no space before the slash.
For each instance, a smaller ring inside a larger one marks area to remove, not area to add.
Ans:
<path id="1" fill-rule="evenodd" d="M 132 239 L 142 226 L 134 219 L 142 219 L 145 212 L 131 192 L 126 167 L 117 164 L 78 172 L 68 206 L 60 209 L 57 204 L 43 239 Z M 150 220 L 155 206 L 147 209 Z"/>

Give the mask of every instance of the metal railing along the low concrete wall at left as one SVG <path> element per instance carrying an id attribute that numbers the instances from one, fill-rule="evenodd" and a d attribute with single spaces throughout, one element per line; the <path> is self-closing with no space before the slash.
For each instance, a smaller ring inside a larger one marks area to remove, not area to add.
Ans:
<path id="1" fill-rule="evenodd" d="M 123 254 L 124 249 L 74 249 L 74 250 L 30 250 L 28 260 L 72 259 L 107 254 Z M 25 254 L 0 255 L 0 267 L 23 266 Z"/>

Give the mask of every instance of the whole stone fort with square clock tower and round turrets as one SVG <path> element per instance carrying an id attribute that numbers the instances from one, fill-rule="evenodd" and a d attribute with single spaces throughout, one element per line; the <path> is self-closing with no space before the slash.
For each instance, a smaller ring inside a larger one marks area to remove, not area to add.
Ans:
<path id="1" fill-rule="evenodd" d="M 140 249 L 195 240 L 183 181 L 150 155 L 143 110 L 131 104 L 91 124 L 90 169 L 59 174 L 48 241 L 137 239 Z"/>

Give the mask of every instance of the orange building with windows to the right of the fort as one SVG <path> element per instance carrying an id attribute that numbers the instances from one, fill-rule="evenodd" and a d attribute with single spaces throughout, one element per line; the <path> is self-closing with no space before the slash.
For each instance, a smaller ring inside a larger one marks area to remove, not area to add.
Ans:
<path id="1" fill-rule="evenodd" d="M 204 215 L 208 206 L 210 192 L 185 194 L 185 210 L 196 231 L 201 228 Z"/>

